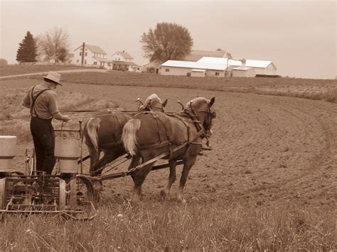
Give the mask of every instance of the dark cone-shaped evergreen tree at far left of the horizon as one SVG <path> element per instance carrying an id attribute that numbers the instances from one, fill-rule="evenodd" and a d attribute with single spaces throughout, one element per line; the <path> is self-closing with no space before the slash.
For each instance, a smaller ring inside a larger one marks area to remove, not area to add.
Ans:
<path id="1" fill-rule="evenodd" d="M 36 62 L 37 47 L 36 40 L 30 31 L 27 31 L 25 38 L 18 44 L 16 60 L 18 62 Z"/>

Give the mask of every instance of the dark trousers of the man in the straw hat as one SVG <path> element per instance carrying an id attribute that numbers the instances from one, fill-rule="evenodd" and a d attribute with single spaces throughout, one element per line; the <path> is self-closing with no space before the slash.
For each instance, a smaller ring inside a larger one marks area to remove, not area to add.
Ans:
<path id="1" fill-rule="evenodd" d="M 51 120 L 32 117 L 31 135 L 36 153 L 36 170 L 51 174 L 56 162 L 54 156 L 55 133 Z"/>

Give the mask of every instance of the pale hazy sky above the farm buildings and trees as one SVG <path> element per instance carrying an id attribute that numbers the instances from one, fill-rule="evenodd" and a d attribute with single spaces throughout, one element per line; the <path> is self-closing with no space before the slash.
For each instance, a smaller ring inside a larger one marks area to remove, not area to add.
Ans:
<path id="1" fill-rule="evenodd" d="M 125 50 L 144 65 L 141 35 L 156 23 L 188 29 L 193 49 L 228 50 L 234 58 L 271 60 L 277 74 L 311 79 L 337 75 L 335 0 L 0 0 L 0 58 L 16 63 L 18 43 L 50 28 L 70 35 L 70 50 Z"/>

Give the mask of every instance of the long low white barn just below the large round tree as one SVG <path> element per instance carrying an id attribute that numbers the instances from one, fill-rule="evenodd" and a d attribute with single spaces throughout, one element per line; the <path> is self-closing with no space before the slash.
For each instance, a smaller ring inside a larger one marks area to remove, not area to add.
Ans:
<path id="1" fill-rule="evenodd" d="M 161 75 L 225 77 L 226 68 L 216 63 L 167 60 L 161 64 Z"/>

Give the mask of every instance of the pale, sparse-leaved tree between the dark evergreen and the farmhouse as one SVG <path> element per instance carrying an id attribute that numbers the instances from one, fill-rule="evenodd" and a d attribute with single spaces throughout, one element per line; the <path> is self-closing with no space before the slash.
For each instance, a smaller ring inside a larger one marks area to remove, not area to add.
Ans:
<path id="1" fill-rule="evenodd" d="M 56 57 L 63 61 L 69 51 L 69 35 L 63 28 L 51 28 L 45 34 L 38 35 L 37 41 L 39 55 L 44 60 Z"/>

